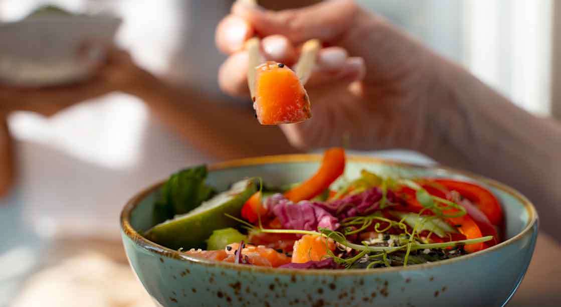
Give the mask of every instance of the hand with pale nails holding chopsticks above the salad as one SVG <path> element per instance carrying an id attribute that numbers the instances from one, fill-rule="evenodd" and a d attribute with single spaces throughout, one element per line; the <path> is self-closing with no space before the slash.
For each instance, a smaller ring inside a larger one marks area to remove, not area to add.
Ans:
<path id="1" fill-rule="evenodd" d="M 243 43 L 263 37 L 267 60 L 292 65 L 308 39 L 324 42 L 314 74 L 305 85 L 312 118 L 282 125 L 299 148 L 418 149 L 429 132 L 440 60 L 415 40 L 353 1 L 326 1 L 280 12 L 237 2 L 217 28 L 217 45 L 229 54 L 219 84 L 231 95 L 247 95 Z M 429 112 L 429 113 L 427 113 Z"/>

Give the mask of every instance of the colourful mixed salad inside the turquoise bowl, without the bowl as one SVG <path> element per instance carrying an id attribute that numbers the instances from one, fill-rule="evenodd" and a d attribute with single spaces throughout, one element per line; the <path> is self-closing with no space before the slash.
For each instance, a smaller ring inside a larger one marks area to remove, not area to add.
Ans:
<path id="1" fill-rule="evenodd" d="M 145 236 L 197 258 L 292 269 L 438 262 L 501 241 L 502 208 L 483 186 L 367 169 L 340 178 L 344 167 L 332 148 L 303 182 L 240 178 L 214 196 L 205 166 L 184 169 L 164 185 Z"/>

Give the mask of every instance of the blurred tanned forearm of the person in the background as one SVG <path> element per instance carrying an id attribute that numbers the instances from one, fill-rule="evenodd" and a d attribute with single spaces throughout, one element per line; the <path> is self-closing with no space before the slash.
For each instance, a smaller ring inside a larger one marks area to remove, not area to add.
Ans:
<path id="1" fill-rule="evenodd" d="M 278 127 L 260 126 L 251 106 L 224 106 L 192 90 L 174 88 L 162 80 L 139 84 L 131 93 L 144 100 L 165 125 L 211 159 L 294 153 Z"/>

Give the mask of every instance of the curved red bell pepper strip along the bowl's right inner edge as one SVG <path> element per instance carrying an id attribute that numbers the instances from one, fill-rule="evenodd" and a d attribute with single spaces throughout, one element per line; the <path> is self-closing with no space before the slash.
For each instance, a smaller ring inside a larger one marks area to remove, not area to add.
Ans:
<path id="1" fill-rule="evenodd" d="M 457 191 L 464 198 L 469 199 L 489 218 L 491 224 L 500 226 L 503 222 L 503 209 L 499 200 L 489 190 L 482 186 L 465 181 L 451 179 L 436 179 L 436 183 L 445 186 L 450 191 Z"/>

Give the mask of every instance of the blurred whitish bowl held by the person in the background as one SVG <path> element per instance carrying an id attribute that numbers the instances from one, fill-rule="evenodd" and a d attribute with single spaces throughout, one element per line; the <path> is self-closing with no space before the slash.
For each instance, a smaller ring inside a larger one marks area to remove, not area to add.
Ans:
<path id="1" fill-rule="evenodd" d="M 89 76 L 82 43 L 112 42 L 121 19 L 109 15 L 51 15 L 0 22 L 0 82 L 53 86 Z M 99 61 L 102 57 L 96 57 Z"/>

